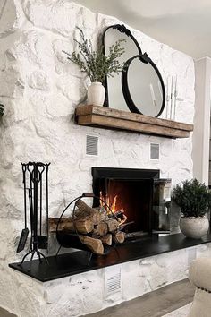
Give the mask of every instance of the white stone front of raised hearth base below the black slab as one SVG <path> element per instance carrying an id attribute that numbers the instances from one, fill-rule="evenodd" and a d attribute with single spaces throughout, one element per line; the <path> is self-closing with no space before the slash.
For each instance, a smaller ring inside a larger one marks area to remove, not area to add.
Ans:
<path id="1" fill-rule="evenodd" d="M 13 293 L 9 299 L 13 296 L 13 312 L 21 317 L 81 316 L 187 278 L 190 261 L 199 256 L 210 257 L 211 245 L 203 244 L 123 263 L 120 265 L 122 291 L 106 297 L 106 269 L 92 270 L 44 284 L 11 270 Z M 116 266 L 109 270 L 116 270 Z M 7 307 L 12 309 L 11 304 Z"/>

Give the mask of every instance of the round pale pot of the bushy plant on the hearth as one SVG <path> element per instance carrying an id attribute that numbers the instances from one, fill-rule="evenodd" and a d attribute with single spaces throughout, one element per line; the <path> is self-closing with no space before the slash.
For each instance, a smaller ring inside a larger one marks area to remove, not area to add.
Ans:
<path id="1" fill-rule="evenodd" d="M 207 217 L 181 217 L 180 227 L 184 236 L 200 239 L 207 234 L 209 221 Z"/>

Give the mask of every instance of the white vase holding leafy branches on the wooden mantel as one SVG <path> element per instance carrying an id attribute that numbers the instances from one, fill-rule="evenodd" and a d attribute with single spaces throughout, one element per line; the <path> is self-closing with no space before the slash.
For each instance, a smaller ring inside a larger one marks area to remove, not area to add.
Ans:
<path id="1" fill-rule="evenodd" d="M 88 104 L 103 106 L 105 100 L 105 88 L 101 82 L 92 82 L 88 88 Z"/>

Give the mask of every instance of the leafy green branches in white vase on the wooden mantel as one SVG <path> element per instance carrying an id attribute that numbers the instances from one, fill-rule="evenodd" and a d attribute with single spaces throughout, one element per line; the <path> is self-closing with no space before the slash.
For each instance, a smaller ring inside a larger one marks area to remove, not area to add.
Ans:
<path id="1" fill-rule="evenodd" d="M 106 76 L 114 77 L 114 73 L 122 72 L 123 64 L 120 64 L 118 58 L 124 53 L 121 42 L 126 39 L 117 40 L 109 48 L 109 54 L 105 56 L 104 47 L 101 45 L 97 50 L 93 50 L 90 39 L 85 39 L 84 33 L 80 28 L 80 41 L 74 39 L 78 44 L 79 51 L 69 54 L 68 59 L 80 67 L 82 73 L 89 76 L 91 85 L 88 88 L 88 103 L 95 106 L 103 106 L 105 100 L 105 88 L 103 83 Z"/>

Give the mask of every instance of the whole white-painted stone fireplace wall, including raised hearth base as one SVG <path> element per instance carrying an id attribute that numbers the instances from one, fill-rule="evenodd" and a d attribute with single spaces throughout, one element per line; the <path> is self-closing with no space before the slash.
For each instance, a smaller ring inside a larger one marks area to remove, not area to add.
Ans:
<path id="1" fill-rule="evenodd" d="M 173 184 L 192 176 L 191 137 L 170 140 L 73 123 L 74 107 L 86 98 L 84 76 L 67 62 L 62 49 L 70 52 L 74 49 L 72 38 L 77 36 L 76 26 L 95 43 L 106 26 L 119 22 L 113 17 L 91 13 L 68 0 L 2 0 L 0 3 L 0 102 L 5 105 L 0 123 L 0 305 L 22 317 L 53 313 L 76 316 L 114 303 L 103 301 L 103 270 L 43 286 L 7 268 L 9 262 L 18 261 L 23 255 L 15 254 L 23 226 L 21 161 L 51 162 L 52 216 L 60 215 L 75 196 L 91 191 L 93 166 L 159 168 L 161 176 L 172 178 Z M 142 50 L 147 51 L 158 66 L 164 81 L 168 75 L 177 74 L 179 97 L 184 101 L 178 103 L 176 120 L 192 123 L 192 59 L 139 30 L 132 32 Z M 97 158 L 85 155 L 86 133 L 99 136 Z M 160 143 L 159 162 L 149 160 L 150 141 Z M 177 254 L 185 258 L 184 253 Z M 174 260 L 169 260 L 167 255 L 140 261 L 140 266 L 139 261 L 123 264 L 121 300 L 173 281 L 162 278 L 165 266 L 157 264 L 162 259 L 166 259 L 169 275 Z M 147 273 L 143 273 L 142 268 Z M 185 270 L 180 278 L 184 277 Z M 148 282 L 154 275 L 161 279 Z M 127 285 L 131 278 L 137 280 L 134 291 Z M 95 303 L 86 301 L 85 293 L 95 296 Z"/>

